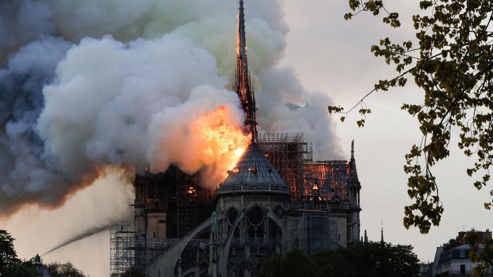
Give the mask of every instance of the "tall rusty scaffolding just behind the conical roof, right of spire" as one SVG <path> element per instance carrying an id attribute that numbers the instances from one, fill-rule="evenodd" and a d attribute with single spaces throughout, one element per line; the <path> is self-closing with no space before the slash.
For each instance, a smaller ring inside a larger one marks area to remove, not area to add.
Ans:
<path id="1" fill-rule="evenodd" d="M 291 201 L 302 200 L 303 164 L 312 161 L 312 143 L 304 142 L 303 133 L 258 134 L 258 146 L 290 186 Z"/>

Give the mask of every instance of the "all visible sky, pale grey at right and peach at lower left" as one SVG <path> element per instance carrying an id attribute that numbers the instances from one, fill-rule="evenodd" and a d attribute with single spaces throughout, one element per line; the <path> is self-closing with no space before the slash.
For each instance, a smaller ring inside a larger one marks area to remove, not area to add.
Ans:
<path id="1" fill-rule="evenodd" d="M 345 21 L 343 14 L 348 11 L 345 0 L 279 2 L 289 31 L 285 51 L 276 67 L 292 68 L 307 91 L 329 96 L 331 104 L 352 106 L 379 79 L 394 75 L 392 67 L 370 52 L 372 44 L 385 37 L 396 41 L 414 38 L 410 22 L 417 0 L 388 1 L 387 8 L 401 14 L 403 26 L 397 30 L 383 24 L 381 16 L 360 14 Z M 421 261 L 431 261 L 436 247 L 454 238 L 458 230 L 472 227 L 485 230 L 493 226 L 492 212 L 483 207 L 488 201 L 488 192 L 478 191 L 472 185 L 474 180 L 465 172 L 471 161 L 455 146 L 457 138 L 454 138 L 450 143 L 450 157 L 434 169 L 445 208 L 440 226 L 432 226 L 425 235 L 416 228 L 404 228 L 404 206 L 411 204 L 407 195 L 407 176 L 403 171 L 404 156 L 421 136 L 416 120 L 400 107 L 403 103 L 419 103 L 420 97 L 421 92 L 412 80 L 406 88 L 378 92 L 366 101 L 372 114 L 367 117 L 365 127 L 357 127 L 355 121 L 359 118 L 356 114 L 349 115 L 344 123 L 335 116 L 330 127 L 335 136 L 328 135 L 328 140 L 336 140 L 336 143 L 327 143 L 340 145 L 343 157 L 349 158 L 351 140 L 355 141 L 362 186 L 361 234 L 367 230 L 370 240 L 379 240 L 383 224 L 385 241 L 411 244 Z M 132 209 L 128 205 L 133 196 L 128 187 L 122 186 L 128 184 L 128 180 L 122 181 L 121 174 L 112 172 L 96 180 L 61 208 L 23 208 L 9 219 L 0 221 L 0 228 L 7 229 L 16 239 L 19 257 L 30 258 L 70 238 L 80 231 L 81 224 L 90 228 L 101 220 L 130 218 Z M 101 209 L 105 212 L 100 212 Z M 72 243 L 43 259 L 45 262 L 70 261 L 90 276 L 108 276 L 109 231 Z"/>

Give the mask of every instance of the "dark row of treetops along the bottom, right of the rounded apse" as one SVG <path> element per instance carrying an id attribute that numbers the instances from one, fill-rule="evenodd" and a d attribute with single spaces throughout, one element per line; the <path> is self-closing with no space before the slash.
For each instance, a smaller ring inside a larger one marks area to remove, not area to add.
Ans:
<path id="1" fill-rule="evenodd" d="M 419 275 L 419 260 L 411 245 L 368 242 L 305 256 L 299 249 L 284 257 L 272 256 L 261 277 L 412 277 Z"/>

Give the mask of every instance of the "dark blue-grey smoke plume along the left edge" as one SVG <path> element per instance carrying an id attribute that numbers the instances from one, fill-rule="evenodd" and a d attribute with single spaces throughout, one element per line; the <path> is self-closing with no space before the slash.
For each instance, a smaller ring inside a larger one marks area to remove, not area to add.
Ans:
<path id="1" fill-rule="evenodd" d="M 44 104 L 42 87 L 53 80 L 55 67 L 70 46 L 61 38 L 42 37 L 20 48 L 0 69 L 2 214 L 24 202 L 51 206 L 70 189 L 57 157 L 45 150 L 36 132 Z"/>

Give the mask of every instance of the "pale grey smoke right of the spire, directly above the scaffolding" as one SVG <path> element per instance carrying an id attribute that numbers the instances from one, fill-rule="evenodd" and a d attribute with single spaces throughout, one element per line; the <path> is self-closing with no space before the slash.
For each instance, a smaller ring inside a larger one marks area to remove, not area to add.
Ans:
<path id="1" fill-rule="evenodd" d="M 307 91 L 291 68 L 271 69 L 260 76 L 260 82 L 257 121 L 261 130 L 303 133 L 305 141 L 313 142 L 314 159 L 342 158 L 327 113 L 331 100 L 326 93 Z"/>

